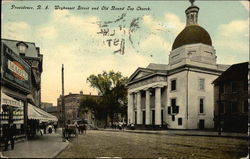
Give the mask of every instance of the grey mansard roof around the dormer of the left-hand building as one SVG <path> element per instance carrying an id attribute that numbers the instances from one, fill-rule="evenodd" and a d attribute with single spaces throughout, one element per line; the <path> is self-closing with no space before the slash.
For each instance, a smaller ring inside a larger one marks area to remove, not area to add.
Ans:
<path id="1" fill-rule="evenodd" d="M 1 39 L 1 41 L 6 44 L 10 49 L 12 49 L 15 53 L 19 53 L 17 44 L 23 43 L 28 46 L 25 56 L 28 57 L 38 57 L 38 51 L 36 49 L 35 43 L 33 42 L 24 42 L 18 40 L 10 40 L 10 39 Z"/>

